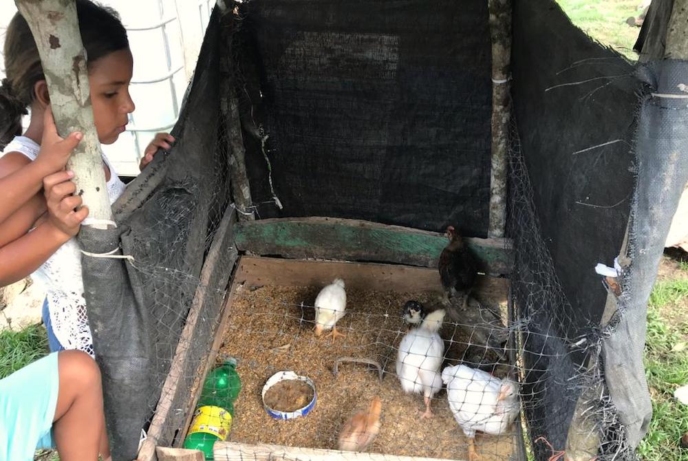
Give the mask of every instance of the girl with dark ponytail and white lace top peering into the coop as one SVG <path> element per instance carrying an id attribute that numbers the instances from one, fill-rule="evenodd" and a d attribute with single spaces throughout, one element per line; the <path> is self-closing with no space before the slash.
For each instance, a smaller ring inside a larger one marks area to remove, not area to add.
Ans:
<path id="1" fill-rule="evenodd" d="M 125 131 L 134 109 L 129 96 L 132 58 L 127 33 L 116 12 L 87 0 L 77 0 L 79 28 L 87 52 L 91 103 L 98 138 L 115 142 Z M 46 168 L 41 158 L 65 151 L 80 140 L 72 133 L 62 140 L 50 113 L 50 96 L 41 59 L 28 24 L 16 14 L 6 32 L 7 78 L 0 87 L 0 178 L 23 179 L 23 187 L 10 189 L 10 199 L 21 206 L 0 219 L 0 286 L 28 275 L 47 292 L 43 320 L 50 349 L 78 349 L 94 355 L 81 277 L 81 254 L 74 236 L 88 210 L 69 173 L 52 175 L 41 184 Z M 28 129 L 21 134 L 21 116 L 31 109 Z M 158 147 L 169 149 L 173 138 L 159 133 L 147 147 L 141 167 L 153 159 Z M 59 157 L 58 155 L 54 157 Z M 66 161 L 66 160 L 65 160 Z M 107 194 L 113 203 L 125 185 L 103 156 Z M 20 183 L 19 180 L 15 180 Z M 43 185 L 43 193 L 40 193 Z M 7 189 L 6 189 L 7 190 Z M 50 211 L 50 213 L 46 213 Z"/>

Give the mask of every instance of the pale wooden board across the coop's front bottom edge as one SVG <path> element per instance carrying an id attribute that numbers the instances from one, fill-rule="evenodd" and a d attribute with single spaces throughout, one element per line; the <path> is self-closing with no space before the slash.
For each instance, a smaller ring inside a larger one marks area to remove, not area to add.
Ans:
<path id="1" fill-rule="evenodd" d="M 450 461 L 441 458 L 416 458 L 383 453 L 283 447 L 271 444 L 252 445 L 237 442 L 215 442 L 213 455 L 215 461 Z"/>

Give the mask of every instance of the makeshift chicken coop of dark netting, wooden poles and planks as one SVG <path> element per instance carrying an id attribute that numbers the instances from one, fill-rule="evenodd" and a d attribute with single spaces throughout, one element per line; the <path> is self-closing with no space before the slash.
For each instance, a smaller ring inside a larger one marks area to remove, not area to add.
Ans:
<path id="1" fill-rule="evenodd" d="M 124 256 L 83 259 L 113 459 L 181 447 L 223 356 L 243 389 L 216 460 L 634 459 L 645 305 L 688 179 L 687 18 L 654 1 L 632 63 L 552 0 L 220 0 L 177 142 L 117 229 L 81 231 Z M 425 325 L 404 306 L 442 303 L 449 226 L 478 275 L 427 335 L 435 371 L 497 387 L 442 376 L 426 420 L 398 379 Z M 344 336 L 317 337 L 334 279 Z M 261 389 L 286 370 L 317 401 L 280 421 Z M 377 438 L 338 451 L 376 397 Z M 489 405 L 508 424 L 477 421 Z"/>

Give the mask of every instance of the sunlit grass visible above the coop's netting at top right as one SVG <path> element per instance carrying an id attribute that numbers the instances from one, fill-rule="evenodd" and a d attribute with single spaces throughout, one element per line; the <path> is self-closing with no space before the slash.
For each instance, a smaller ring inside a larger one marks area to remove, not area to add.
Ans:
<path id="1" fill-rule="evenodd" d="M 638 16 L 640 0 L 557 0 L 572 23 L 596 41 L 616 48 L 627 58 L 636 60 L 632 51 L 640 28 L 631 27 L 626 19 Z"/>

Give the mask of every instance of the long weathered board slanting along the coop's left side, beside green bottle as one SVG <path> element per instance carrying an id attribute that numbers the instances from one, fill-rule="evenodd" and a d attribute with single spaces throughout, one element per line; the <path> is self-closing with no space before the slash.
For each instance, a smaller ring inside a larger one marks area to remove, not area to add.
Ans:
<path id="1" fill-rule="evenodd" d="M 153 420 L 147 432 L 147 438 L 138 452 L 138 461 L 151 461 L 155 456 L 155 447 L 161 441 L 163 431 L 171 424 L 169 418 L 173 413 L 172 403 L 178 399 L 180 382 L 188 376 L 184 376 L 184 370 L 189 368 L 190 355 L 193 347 L 197 347 L 197 330 L 200 319 L 205 319 L 206 303 L 213 302 L 215 290 L 223 290 L 237 260 L 237 250 L 232 245 L 233 226 L 236 221 L 234 208 L 228 207 L 222 217 L 208 256 L 204 261 L 200 274 L 200 280 L 193 297 L 191 309 L 186 317 L 184 330 L 180 335 L 177 349 L 175 350 L 172 365 L 162 386 L 158 407 L 155 409 Z M 223 270 L 217 270 L 224 268 Z M 183 438 L 183 435 L 182 435 Z"/>

